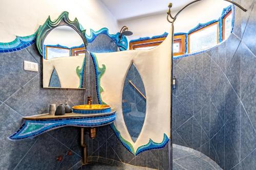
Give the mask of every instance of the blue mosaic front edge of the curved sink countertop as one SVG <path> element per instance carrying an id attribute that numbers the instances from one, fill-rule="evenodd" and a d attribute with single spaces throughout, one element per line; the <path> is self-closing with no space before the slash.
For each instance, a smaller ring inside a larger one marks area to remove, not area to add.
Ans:
<path id="1" fill-rule="evenodd" d="M 23 125 L 12 134 L 10 140 L 33 138 L 47 131 L 65 126 L 98 127 L 111 124 L 116 118 L 115 112 L 95 117 L 74 117 L 58 119 L 24 120 Z"/>

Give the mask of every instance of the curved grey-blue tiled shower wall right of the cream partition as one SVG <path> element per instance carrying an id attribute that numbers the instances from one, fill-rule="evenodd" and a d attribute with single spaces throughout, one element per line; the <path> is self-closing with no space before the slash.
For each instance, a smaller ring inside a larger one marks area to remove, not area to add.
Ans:
<path id="1" fill-rule="evenodd" d="M 172 136 L 174 143 L 201 151 L 223 169 L 254 169 L 256 4 L 238 3 L 248 11 L 236 8 L 226 41 L 174 60 Z"/>

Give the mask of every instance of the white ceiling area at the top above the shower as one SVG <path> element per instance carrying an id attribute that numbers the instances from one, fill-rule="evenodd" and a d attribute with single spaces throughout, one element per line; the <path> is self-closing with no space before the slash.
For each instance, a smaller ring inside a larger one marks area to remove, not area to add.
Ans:
<path id="1" fill-rule="evenodd" d="M 166 12 L 170 2 L 173 3 L 172 10 L 175 11 L 192 1 L 193 0 L 101 0 L 118 21 Z"/>

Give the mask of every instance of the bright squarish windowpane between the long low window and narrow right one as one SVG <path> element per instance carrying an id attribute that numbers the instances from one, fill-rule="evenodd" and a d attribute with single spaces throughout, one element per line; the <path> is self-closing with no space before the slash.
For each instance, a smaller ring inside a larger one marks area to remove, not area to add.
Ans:
<path id="1" fill-rule="evenodd" d="M 203 30 L 189 35 L 190 53 L 197 52 L 217 45 L 218 24 L 211 25 Z"/>

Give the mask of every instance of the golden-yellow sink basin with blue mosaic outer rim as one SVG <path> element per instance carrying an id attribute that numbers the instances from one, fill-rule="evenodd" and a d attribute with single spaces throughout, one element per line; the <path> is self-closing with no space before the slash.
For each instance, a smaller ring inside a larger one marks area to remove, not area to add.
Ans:
<path id="1" fill-rule="evenodd" d="M 90 114 L 90 113 L 108 113 L 111 111 L 109 105 L 78 105 L 72 107 L 73 113 Z"/>

